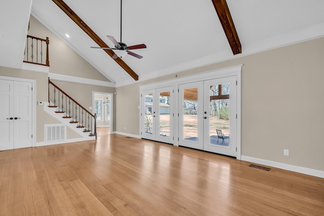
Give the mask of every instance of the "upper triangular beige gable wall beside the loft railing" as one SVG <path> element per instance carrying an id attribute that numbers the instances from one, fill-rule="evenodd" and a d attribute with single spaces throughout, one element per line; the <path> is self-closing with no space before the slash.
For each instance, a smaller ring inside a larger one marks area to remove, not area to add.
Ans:
<path id="1" fill-rule="evenodd" d="M 109 81 L 31 15 L 27 34 L 44 39 L 49 37 L 50 73 Z"/>

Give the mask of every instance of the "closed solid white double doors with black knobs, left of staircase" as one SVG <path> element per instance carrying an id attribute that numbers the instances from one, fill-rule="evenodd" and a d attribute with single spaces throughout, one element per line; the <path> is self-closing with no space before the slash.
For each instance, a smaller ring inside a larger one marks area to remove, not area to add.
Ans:
<path id="1" fill-rule="evenodd" d="M 32 83 L 0 79 L 0 150 L 32 146 Z"/>

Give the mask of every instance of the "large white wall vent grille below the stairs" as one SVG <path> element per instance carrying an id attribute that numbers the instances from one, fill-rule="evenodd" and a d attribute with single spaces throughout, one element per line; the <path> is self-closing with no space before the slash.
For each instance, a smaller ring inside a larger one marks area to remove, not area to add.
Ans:
<path id="1" fill-rule="evenodd" d="M 65 124 L 45 124 L 44 125 L 44 142 L 66 140 Z"/>

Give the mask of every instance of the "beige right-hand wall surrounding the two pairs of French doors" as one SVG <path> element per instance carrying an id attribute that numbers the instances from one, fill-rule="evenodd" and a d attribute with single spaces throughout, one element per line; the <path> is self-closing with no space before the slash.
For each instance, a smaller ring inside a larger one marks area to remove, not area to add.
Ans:
<path id="1" fill-rule="evenodd" d="M 242 155 L 324 170 L 323 59 L 324 37 L 177 74 L 244 64 Z M 172 77 L 116 88 L 116 131 L 139 135 L 139 85 Z M 290 156 L 284 156 L 284 149 Z"/>

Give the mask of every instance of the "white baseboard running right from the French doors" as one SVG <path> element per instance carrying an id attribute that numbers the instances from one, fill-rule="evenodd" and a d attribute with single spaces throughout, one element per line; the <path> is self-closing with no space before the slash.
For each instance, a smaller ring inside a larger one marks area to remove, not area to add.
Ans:
<path id="1" fill-rule="evenodd" d="M 301 174 L 306 174 L 310 176 L 315 176 L 319 178 L 324 178 L 324 171 L 317 170 L 317 169 L 311 169 L 311 168 L 306 168 L 302 166 L 295 166 L 295 165 L 290 165 L 287 163 L 279 163 L 271 160 L 264 160 L 260 158 L 255 158 L 255 157 L 249 157 L 245 155 L 241 155 L 241 160 L 244 161 L 249 161 L 253 163 L 259 163 L 262 165 L 267 165 L 267 166 L 272 166 L 280 169 L 286 169 L 289 171 L 294 171 L 294 172 L 299 172 Z"/>

